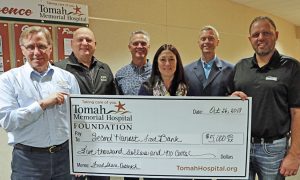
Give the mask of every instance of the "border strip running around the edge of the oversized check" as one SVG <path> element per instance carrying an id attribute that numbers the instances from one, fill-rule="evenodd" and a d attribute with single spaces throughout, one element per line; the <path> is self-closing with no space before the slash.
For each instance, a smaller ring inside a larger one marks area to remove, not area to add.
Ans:
<path id="1" fill-rule="evenodd" d="M 105 95 L 71 95 L 69 97 L 69 105 L 68 105 L 68 115 L 69 118 L 72 116 L 71 114 L 71 109 L 72 109 L 72 102 L 76 99 L 86 99 L 86 100 L 95 100 L 95 99 L 100 99 L 100 100 L 142 100 L 142 101 L 147 101 L 147 100 L 156 100 L 156 101 L 165 101 L 165 100 L 171 100 L 171 101 L 211 101 L 211 100 L 221 100 L 221 101 L 230 101 L 230 102 L 240 102 L 241 100 L 239 98 L 234 98 L 234 97 L 155 97 L 155 96 L 105 96 Z M 252 106 L 252 99 L 249 98 L 244 101 L 247 106 L 247 133 L 245 137 L 245 148 L 246 148 L 246 161 L 244 164 L 244 174 L 239 175 L 239 176 L 232 176 L 232 175 L 216 175 L 214 174 L 213 176 L 211 175 L 201 175 L 201 176 L 195 176 L 195 175 L 172 175 L 172 174 L 160 174 L 160 175 L 151 175 L 151 174 L 144 174 L 144 173 L 105 173 L 105 172 L 91 172 L 91 171 L 78 171 L 75 170 L 75 164 L 74 164 L 74 158 L 76 159 L 76 156 L 74 155 L 74 144 L 75 142 L 75 137 L 73 134 L 74 129 L 73 123 L 70 120 L 70 171 L 72 174 L 75 173 L 83 173 L 83 174 L 91 174 L 91 175 L 98 175 L 98 176 L 126 176 L 126 177 L 163 177 L 163 178 L 232 178 L 232 179 L 242 179 L 242 178 L 247 178 L 249 174 L 249 152 L 250 152 L 250 131 L 251 131 L 251 106 Z M 71 118 L 70 118 L 71 119 Z"/>

